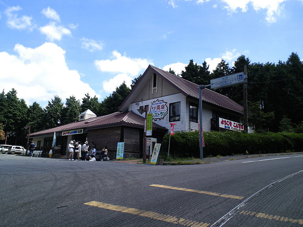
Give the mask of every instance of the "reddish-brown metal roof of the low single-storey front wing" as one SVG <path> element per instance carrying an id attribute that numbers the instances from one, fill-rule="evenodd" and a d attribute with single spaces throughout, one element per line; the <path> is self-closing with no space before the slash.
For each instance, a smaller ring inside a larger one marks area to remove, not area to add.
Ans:
<path id="1" fill-rule="evenodd" d="M 79 129 L 79 128 L 96 128 L 96 127 L 111 127 L 112 125 L 119 124 L 135 124 L 137 127 L 144 128 L 145 118 L 134 113 L 132 110 L 128 112 L 116 112 L 100 117 L 93 117 L 87 120 L 77 121 L 65 125 L 61 125 L 55 128 L 42 130 L 40 132 L 31 133 L 30 136 L 37 136 L 41 134 L 62 132 L 67 130 Z M 153 128 L 158 130 L 167 130 L 167 128 L 158 125 L 153 122 Z"/>

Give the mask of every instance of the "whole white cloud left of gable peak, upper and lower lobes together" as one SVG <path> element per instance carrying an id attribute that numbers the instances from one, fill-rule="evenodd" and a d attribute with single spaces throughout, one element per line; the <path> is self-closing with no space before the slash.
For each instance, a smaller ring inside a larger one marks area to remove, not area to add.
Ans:
<path id="1" fill-rule="evenodd" d="M 118 51 L 112 51 L 112 60 L 96 60 L 95 66 L 102 72 L 117 74 L 115 77 L 103 81 L 103 88 L 108 93 L 114 91 L 123 81 L 127 86 L 131 85 L 132 79 L 137 77 L 149 64 L 151 60 L 142 58 L 128 58 L 122 56 Z"/>

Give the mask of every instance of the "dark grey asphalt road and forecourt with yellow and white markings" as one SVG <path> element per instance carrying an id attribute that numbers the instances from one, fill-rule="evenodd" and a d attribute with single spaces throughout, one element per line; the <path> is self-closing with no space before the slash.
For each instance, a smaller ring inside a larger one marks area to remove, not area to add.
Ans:
<path id="1" fill-rule="evenodd" d="M 302 163 L 303 154 L 188 166 L 2 154 L 0 226 L 303 226 Z"/>

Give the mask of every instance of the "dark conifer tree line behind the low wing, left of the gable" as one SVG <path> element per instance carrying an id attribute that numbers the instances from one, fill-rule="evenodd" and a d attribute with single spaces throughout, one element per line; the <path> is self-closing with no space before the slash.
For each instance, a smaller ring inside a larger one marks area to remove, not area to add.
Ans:
<path id="1" fill-rule="evenodd" d="M 31 126 L 31 133 L 58 127 L 78 121 L 79 114 L 87 109 L 92 110 L 97 116 L 117 112 L 130 90 L 123 82 L 102 102 L 99 102 L 96 96 L 90 97 L 88 93 L 81 101 L 70 96 L 63 102 L 56 95 L 48 101 L 45 108 L 37 102 L 28 107 L 24 99 L 18 98 L 14 88 L 6 94 L 3 90 L 0 93 L 0 142 L 4 144 L 7 135 L 7 144 L 25 145 L 28 134 L 25 126 Z"/>

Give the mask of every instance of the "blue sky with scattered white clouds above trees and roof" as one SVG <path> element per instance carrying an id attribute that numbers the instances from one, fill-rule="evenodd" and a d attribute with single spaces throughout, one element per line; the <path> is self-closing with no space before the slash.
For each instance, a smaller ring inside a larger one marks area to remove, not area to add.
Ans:
<path id="1" fill-rule="evenodd" d="M 28 105 L 99 101 L 152 64 L 214 69 L 303 54 L 303 0 L 0 0 L 0 89 Z"/>

